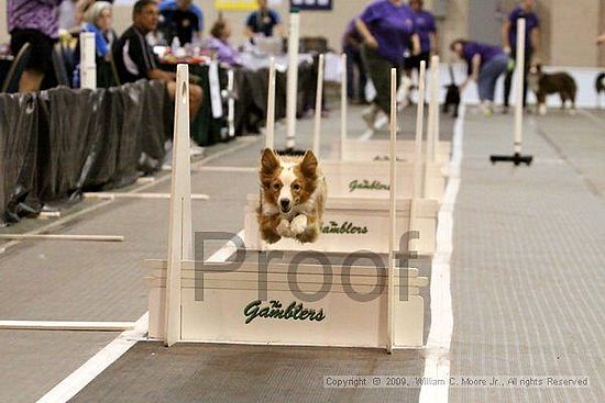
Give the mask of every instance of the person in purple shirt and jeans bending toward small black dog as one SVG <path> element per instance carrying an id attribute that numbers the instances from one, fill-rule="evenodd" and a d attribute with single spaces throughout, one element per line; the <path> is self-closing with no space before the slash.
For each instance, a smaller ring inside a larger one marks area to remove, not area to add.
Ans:
<path id="1" fill-rule="evenodd" d="M 471 81 L 476 81 L 483 110 L 485 114 L 491 115 L 494 112 L 496 81 L 508 67 L 508 56 L 499 47 L 464 40 L 452 42 L 450 48 L 466 61 L 469 67 L 469 77 L 460 86 L 460 92 Z"/>

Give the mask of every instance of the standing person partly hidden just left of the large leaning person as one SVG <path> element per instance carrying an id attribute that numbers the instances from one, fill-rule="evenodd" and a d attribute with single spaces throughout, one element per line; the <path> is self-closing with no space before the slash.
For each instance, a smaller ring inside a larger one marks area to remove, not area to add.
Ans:
<path id="1" fill-rule="evenodd" d="M 355 19 L 353 19 L 342 37 L 342 52 L 346 54 L 346 97 L 349 100 L 355 99 L 355 68 L 358 69 L 358 101 L 360 103 L 365 102 L 365 85 L 367 83 L 367 76 L 365 75 L 365 68 L 361 57 L 361 45 L 363 37 L 361 36 L 358 27 L 355 26 Z"/>

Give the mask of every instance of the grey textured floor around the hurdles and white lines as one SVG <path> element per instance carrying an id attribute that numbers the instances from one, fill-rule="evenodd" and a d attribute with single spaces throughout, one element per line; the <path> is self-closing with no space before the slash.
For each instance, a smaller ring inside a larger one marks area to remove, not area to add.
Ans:
<path id="1" fill-rule="evenodd" d="M 360 136 L 360 108 L 350 135 Z M 451 136 L 451 121 L 443 117 Z M 324 122 L 322 153 L 339 133 L 338 109 Z M 530 168 L 491 166 L 508 153 L 512 116 L 470 110 L 462 181 L 455 208 L 452 374 L 576 374 L 590 389 L 450 389 L 455 402 L 605 400 L 605 113 L 553 111 L 528 116 Z M 310 145 L 312 122 L 298 127 Z M 404 132 L 411 137 L 414 113 Z M 280 127 L 277 138 L 282 138 Z M 383 134 L 384 136 L 384 134 Z M 279 143 L 277 147 L 282 146 Z M 262 138 L 209 149 L 200 164 L 255 166 Z M 194 228 L 238 232 L 253 173 L 197 172 Z M 135 189 L 134 187 L 133 189 Z M 131 189 L 132 190 L 132 189 Z M 146 191 L 166 192 L 158 177 Z M 78 206 L 76 209 L 80 209 Z M 73 214 L 76 209 L 65 211 Z M 28 221 L 24 232 L 53 221 Z M 120 201 L 58 225 L 59 233 L 120 234 L 122 244 L 25 242 L 0 254 L 1 320 L 136 321 L 146 311 L 140 262 L 163 257 L 167 202 Z M 4 244 L 6 245 L 6 244 Z M 216 249 L 220 245 L 211 245 Z M 2 244 L 0 244 L 0 248 Z M 32 402 L 94 356 L 116 334 L 0 331 L 0 402 Z M 139 343 L 85 388 L 77 402 L 415 402 L 418 389 L 327 390 L 327 374 L 421 374 L 418 351 L 290 349 Z"/>

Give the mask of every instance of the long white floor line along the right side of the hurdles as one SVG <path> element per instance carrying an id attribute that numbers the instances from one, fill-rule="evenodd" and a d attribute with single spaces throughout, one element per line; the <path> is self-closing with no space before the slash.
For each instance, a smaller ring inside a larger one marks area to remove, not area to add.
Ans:
<path id="1" fill-rule="evenodd" d="M 453 331 L 452 295 L 450 289 L 450 258 L 453 250 L 453 212 L 460 188 L 462 164 L 462 142 L 464 137 L 464 112 L 454 125 L 450 178 L 446 188 L 443 204 L 439 211 L 437 226 L 437 249 L 431 266 L 431 327 L 426 347 L 425 378 L 444 380 L 442 385 L 424 384 L 420 389 L 420 403 L 448 402 L 450 379 L 450 344 Z"/>

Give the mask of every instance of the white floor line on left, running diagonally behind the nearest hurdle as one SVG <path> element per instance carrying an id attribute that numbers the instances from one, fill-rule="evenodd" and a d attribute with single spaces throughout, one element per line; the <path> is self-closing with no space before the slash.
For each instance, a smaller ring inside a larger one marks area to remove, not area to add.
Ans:
<path id="1" fill-rule="evenodd" d="M 239 237 L 243 237 L 244 231 L 238 233 Z M 207 261 L 221 262 L 227 260 L 237 247 L 232 240 L 224 244 L 219 250 L 210 256 Z M 111 363 L 127 352 L 136 342 L 145 340 L 148 324 L 148 312 L 145 312 L 139 321 L 136 321 L 134 329 L 127 331 L 118 336 L 113 342 L 108 344 L 102 350 L 97 352 L 92 358 L 86 361 L 80 368 L 72 372 L 55 388 L 42 396 L 37 403 L 63 403 L 74 398 L 88 383 L 105 371 Z"/>

